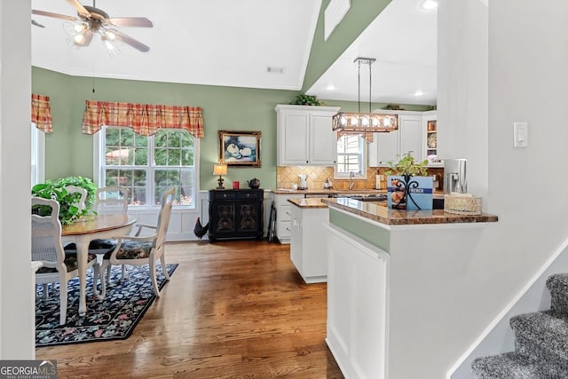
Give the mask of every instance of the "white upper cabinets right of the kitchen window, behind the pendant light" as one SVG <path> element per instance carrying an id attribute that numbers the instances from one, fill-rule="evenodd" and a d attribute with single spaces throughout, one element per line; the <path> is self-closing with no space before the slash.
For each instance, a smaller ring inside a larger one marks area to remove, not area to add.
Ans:
<path id="1" fill-rule="evenodd" d="M 422 161 L 431 155 L 432 149 L 427 148 L 427 128 L 428 122 L 430 122 L 430 127 L 434 122 L 435 127 L 436 111 L 375 110 L 375 113 L 398 114 L 398 130 L 374 134 L 373 142 L 368 145 L 368 165 L 370 167 L 388 166 L 387 162 L 396 161 L 397 155 L 408 152 L 411 152 L 416 161 Z M 437 137 L 434 133 L 433 138 Z"/>

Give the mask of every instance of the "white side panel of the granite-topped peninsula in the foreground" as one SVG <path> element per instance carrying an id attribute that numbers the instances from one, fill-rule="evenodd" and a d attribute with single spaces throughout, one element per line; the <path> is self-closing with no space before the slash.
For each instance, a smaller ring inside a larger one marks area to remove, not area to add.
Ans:
<path id="1" fill-rule="evenodd" d="M 387 377 L 389 255 L 327 227 L 326 343 L 346 378 Z"/>

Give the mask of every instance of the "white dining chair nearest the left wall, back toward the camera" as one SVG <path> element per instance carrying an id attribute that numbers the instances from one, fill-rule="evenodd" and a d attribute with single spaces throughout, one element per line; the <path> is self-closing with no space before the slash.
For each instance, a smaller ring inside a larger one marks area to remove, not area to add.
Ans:
<path id="1" fill-rule="evenodd" d="M 34 214 L 37 207 L 49 208 L 48 216 Z M 59 282 L 59 324 L 67 320 L 67 286 L 69 280 L 79 276 L 76 254 L 66 254 L 61 244 L 61 223 L 59 221 L 59 202 L 51 199 L 32 197 L 32 252 L 31 260 L 41 262 L 36 272 L 36 284 L 47 285 Z M 99 272 L 97 257 L 90 254 L 87 268 Z M 96 274 L 93 273 L 93 292 L 96 293 Z M 45 286 L 43 288 L 45 288 Z"/>

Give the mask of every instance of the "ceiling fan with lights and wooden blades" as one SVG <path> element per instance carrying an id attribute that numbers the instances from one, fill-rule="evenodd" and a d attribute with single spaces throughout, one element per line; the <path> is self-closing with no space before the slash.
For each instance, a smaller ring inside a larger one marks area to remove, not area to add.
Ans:
<path id="1" fill-rule="evenodd" d="M 67 20 L 64 28 L 70 36 L 69 43 L 73 43 L 76 47 L 88 46 L 92 37 L 99 34 L 106 49 L 111 55 L 120 52 L 118 46 L 120 43 L 127 43 L 139 51 L 149 51 L 150 47 L 138 40 L 127 36 L 114 27 L 138 27 L 152 28 L 152 21 L 146 17 L 109 17 L 108 13 L 96 7 L 95 0 L 92 6 L 80 4 L 77 0 L 67 0 L 77 10 L 77 17 L 67 16 L 65 14 L 51 13 L 44 11 L 32 10 L 33 14 L 39 16 L 53 17 L 56 19 Z M 32 20 L 32 24 L 36 25 Z M 37 25 L 43 27 L 43 25 Z"/>

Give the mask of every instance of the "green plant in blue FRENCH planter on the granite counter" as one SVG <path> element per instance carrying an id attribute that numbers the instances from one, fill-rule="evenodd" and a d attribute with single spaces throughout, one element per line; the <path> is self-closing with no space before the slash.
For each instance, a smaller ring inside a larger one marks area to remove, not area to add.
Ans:
<path id="1" fill-rule="evenodd" d="M 432 209 L 432 178 L 425 176 L 428 160 L 414 162 L 411 153 L 397 155 L 396 162 L 387 162 L 389 208 Z"/>

